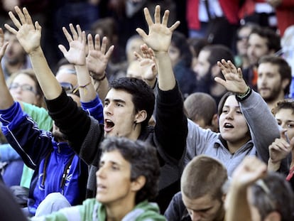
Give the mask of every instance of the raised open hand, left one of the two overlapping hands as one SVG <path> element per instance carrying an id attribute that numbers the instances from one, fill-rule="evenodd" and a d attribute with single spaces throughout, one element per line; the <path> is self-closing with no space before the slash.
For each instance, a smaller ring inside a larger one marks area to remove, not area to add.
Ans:
<path id="1" fill-rule="evenodd" d="M 67 31 L 65 27 L 62 28 L 65 38 L 70 44 L 70 49 L 67 51 L 64 45 L 58 45 L 65 58 L 69 63 L 73 65 L 86 65 L 86 33 L 82 31 L 80 26 L 77 25 L 77 31 L 75 27 L 70 23 L 70 31 L 72 35 Z"/>

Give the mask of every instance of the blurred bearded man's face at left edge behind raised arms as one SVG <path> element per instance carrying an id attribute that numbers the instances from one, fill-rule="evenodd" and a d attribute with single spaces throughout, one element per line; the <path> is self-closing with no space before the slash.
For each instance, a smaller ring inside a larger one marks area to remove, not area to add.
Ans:
<path id="1" fill-rule="evenodd" d="M 32 68 L 32 65 L 28 55 L 23 50 L 23 47 L 18 42 L 16 36 L 9 31 L 5 31 L 5 29 L 4 41 L 9 42 L 9 45 L 7 46 L 4 57 L 1 60 L 1 67 L 4 72 L 4 77 L 7 80 L 13 72 Z"/>

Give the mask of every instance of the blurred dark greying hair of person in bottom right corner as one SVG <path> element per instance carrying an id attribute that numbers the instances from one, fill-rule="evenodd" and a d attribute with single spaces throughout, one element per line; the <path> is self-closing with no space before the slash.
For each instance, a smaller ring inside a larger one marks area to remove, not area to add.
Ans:
<path id="1" fill-rule="evenodd" d="M 290 183 L 284 176 L 274 172 L 268 173 L 262 180 L 270 193 L 266 193 L 258 183 L 251 185 L 253 195 L 251 204 L 257 207 L 261 220 L 273 211 L 281 215 L 282 221 L 293 220 L 294 194 Z"/>

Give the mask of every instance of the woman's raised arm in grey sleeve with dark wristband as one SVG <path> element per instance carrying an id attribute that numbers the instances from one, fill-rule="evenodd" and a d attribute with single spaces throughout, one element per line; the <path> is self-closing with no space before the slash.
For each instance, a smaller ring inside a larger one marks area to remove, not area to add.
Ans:
<path id="1" fill-rule="evenodd" d="M 246 85 L 240 68 L 236 69 L 232 62 L 225 60 L 217 64 L 222 70 L 224 80 L 216 77 L 215 81 L 236 94 L 241 111 L 249 125 L 251 139 L 256 147 L 258 157 L 264 163 L 267 163 L 269 158 L 268 146 L 280 136 L 276 119 L 263 98 Z"/>

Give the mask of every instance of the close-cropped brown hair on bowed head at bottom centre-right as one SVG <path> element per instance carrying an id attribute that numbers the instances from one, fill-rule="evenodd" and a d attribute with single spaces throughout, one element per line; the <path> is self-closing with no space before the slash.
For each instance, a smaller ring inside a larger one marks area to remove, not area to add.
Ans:
<path id="1" fill-rule="evenodd" d="M 200 155 L 190 161 L 180 180 L 182 194 L 192 200 L 205 195 L 222 200 L 222 186 L 227 181 L 227 168 L 217 159 Z"/>

